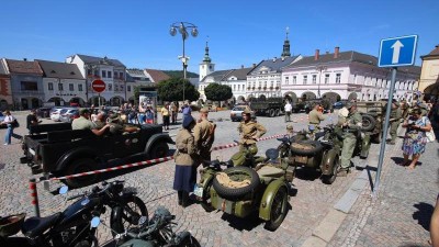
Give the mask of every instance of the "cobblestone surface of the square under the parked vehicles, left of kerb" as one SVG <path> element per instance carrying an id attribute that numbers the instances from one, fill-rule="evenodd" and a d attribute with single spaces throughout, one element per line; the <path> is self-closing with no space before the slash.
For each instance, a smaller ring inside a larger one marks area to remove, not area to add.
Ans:
<path id="1" fill-rule="evenodd" d="M 234 138 L 237 138 L 236 127 L 238 123 L 227 121 L 228 114 L 228 111 L 210 114 L 210 119 L 216 120 L 217 123 L 217 135 L 214 146 L 229 144 L 233 143 Z M 295 128 L 304 128 L 306 126 L 306 115 L 301 113 L 294 116 L 297 120 L 297 123 L 293 123 Z M 19 115 L 18 119 L 22 126 L 15 130 L 15 132 L 24 134 L 24 115 Z M 223 121 L 218 121 L 219 119 L 223 119 Z M 274 119 L 258 117 L 258 121 L 267 126 L 268 133 L 266 136 L 285 132 L 283 116 Z M 44 122 L 49 121 L 45 120 Z M 170 134 L 175 135 L 178 128 L 179 126 L 177 125 L 171 126 Z M 3 137 L 3 135 L 4 130 L 0 130 L 0 136 Z M 0 164 L 4 165 L 0 165 L 0 187 L 2 188 L 0 190 L 0 215 L 18 212 L 26 212 L 29 215 L 33 215 L 30 191 L 27 189 L 31 171 L 27 166 L 19 164 L 22 150 L 18 143 L 19 141 L 13 139 L 13 145 L 1 145 L 0 147 Z M 275 139 L 258 143 L 261 155 L 267 148 L 275 146 L 278 146 L 278 141 Z M 375 148 L 375 151 L 371 154 L 376 154 L 376 145 L 372 147 Z M 218 156 L 226 160 L 235 151 L 237 151 L 237 147 L 218 150 L 213 153 L 213 157 Z M 304 172 L 299 172 L 299 178 L 295 178 L 293 181 L 293 188 L 296 193 L 293 193 L 290 199 L 291 210 L 288 212 L 286 218 L 278 231 L 268 232 L 263 228 L 263 222 L 257 220 L 257 216 L 241 220 L 222 212 L 206 213 L 198 204 L 192 204 L 185 210 L 178 206 L 177 194 L 171 189 L 173 170 L 175 164 L 168 161 L 120 176 L 117 179 L 125 180 L 126 186 L 137 188 L 138 197 L 145 201 L 150 213 L 158 205 L 168 207 L 171 213 L 177 215 L 178 231 L 190 231 L 200 242 L 201 246 L 263 247 L 301 246 L 360 172 L 354 170 L 346 178 L 337 178 L 331 186 L 322 183 L 318 175 L 306 176 Z M 50 189 L 59 186 L 60 183 L 54 182 L 50 184 Z M 42 216 L 61 211 L 70 203 L 66 202 L 65 195 L 52 195 L 49 192 L 43 190 L 43 184 L 38 184 L 37 188 Z M 90 190 L 90 187 L 70 191 L 69 194 L 77 194 L 83 190 Z M 111 240 L 109 229 L 104 226 L 99 227 L 98 234 L 101 245 Z"/>

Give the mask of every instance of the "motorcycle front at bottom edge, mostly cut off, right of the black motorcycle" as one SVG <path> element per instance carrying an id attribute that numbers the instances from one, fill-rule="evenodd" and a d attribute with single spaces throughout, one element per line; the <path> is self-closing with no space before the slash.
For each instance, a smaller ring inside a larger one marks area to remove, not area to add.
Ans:
<path id="1" fill-rule="evenodd" d="M 176 215 L 172 215 L 169 210 L 159 206 L 149 222 L 147 217 L 140 217 L 138 227 L 117 234 L 116 245 L 120 247 L 200 246 L 189 232 L 176 233 L 172 229 L 172 226 L 177 225 L 172 222 L 175 218 Z"/>

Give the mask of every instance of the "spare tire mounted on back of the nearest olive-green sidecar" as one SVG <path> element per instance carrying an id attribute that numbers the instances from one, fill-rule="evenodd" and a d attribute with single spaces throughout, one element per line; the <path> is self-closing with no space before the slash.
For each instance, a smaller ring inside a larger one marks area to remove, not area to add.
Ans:
<path id="1" fill-rule="evenodd" d="M 249 167 L 232 167 L 223 170 L 230 180 L 233 181 L 244 181 L 245 179 L 250 180 L 250 184 L 243 188 L 228 188 L 219 183 L 216 177 L 213 179 L 213 189 L 215 189 L 216 193 L 223 199 L 237 201 L 241 199 L 244 195 L 254 191 L 259 187 L 260 180 L 258 173 L 249 168 Z"/>

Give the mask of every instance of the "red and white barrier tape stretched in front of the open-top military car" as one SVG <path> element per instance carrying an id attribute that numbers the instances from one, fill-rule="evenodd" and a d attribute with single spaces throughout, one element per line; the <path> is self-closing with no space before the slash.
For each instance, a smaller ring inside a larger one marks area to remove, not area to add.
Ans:
<path id="1" fill-rule="evenodd" d="M 280 136 L 283 136 L 283 134 L 272 135 L 272 136 L 268 136 L 268 137 L 263 137 L 263 138 L 258 138 L 258 142 L 272 139 L 272 138 L 277 138 L 277 137 L 280 137 Z M 222 146 L 213 147 L 212 150 L 225 149 L 225 148 L 235 147 L 235 146 L 238 146 L 238 145 L 239 144 L 237 144 L 237 143 L 228 144 L 228 145 L 222 145 Z M 146 161 L 138 161 L 138 162 L 127 164 L 127 165 L 123 165 L 123 166 L 105 168 L 105 169 L 101 169 L 101 170 L 92 170 L 92 171 L 86 171 L 86 172 L 76 173 L 76 175 L 68 175 L 68 176 L 64 176 L 64 177 L 59 177 L 59 178 L 50 178 L 49 180 L 50 181 L 55 181 L 55 180 L 78 178 L 78 177 L 83 177 L 83 176 L 89 176 L 89 175 L 98 175 L 98 173 L 103 173 L 103 172 L 114 171 L 114 170 L 121 170 L 121 169 L 131 168 L 131 167 L 139 167 L 139 166 L 147 166 L 147 165 L 153 165 L 153 164 L 158 164 L 158 162 L 165 162 L 165 161 L 172 160 L 172 159 L 173 159 L 173 156 L 168 156 L 168 157 L 165 157 L 165 158 L 157 158 L 157 159 L 150 159 L 150 160 L 146 160 Z M 41 181 L 43 181 L 43 180 L 41 180 Z"/>

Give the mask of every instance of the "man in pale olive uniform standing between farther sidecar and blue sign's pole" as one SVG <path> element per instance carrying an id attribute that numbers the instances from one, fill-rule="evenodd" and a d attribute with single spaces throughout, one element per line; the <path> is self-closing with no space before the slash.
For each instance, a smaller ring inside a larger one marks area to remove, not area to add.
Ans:
<path id="1" fill-rule="evenodd" d="M 341 149 L 341 168 L 339 176 L 345 177 L 349 172 L 350 159 L 352 158 L 353 150 L 357 144 L 357 134 L 361 128 L 362 117 L 357 111 L 357 104 L 348 102 L 346 108 L 349 114 L 346 121 L 341 124 L 344 130 L 344 144 Z"/>

